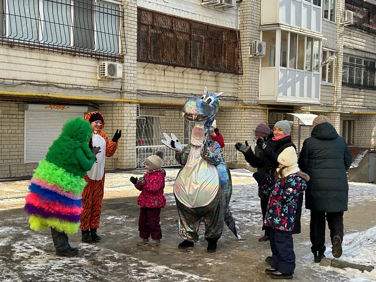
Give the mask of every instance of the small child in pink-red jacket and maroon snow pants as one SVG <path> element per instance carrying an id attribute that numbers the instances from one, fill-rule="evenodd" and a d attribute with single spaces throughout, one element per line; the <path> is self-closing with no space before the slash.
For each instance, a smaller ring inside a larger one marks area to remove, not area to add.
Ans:
<path id="1" fill-rule="evenodd" d="M 158 150 L 154 155 L 146 159 L 147 172 L 143 177 L 130 177 L 130 182 L 141 191 L 137 198 L 140 205 L 140 218 L 138 218 L 138 231 L 140 239 L 137 245 L 149 246 L 161 245 L 162 230 L 160 225 L 161 208 L 166 206 L 166 198 L 163 195 L 165 189 L 165 170 L 161 169 L 164 153 Z M 149 236 L 151 240 L 149 241 Z"/>

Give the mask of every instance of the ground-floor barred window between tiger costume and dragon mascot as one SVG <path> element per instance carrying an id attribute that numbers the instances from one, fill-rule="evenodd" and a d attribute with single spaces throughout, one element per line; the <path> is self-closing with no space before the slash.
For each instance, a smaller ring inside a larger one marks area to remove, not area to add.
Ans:
<path id="1" fill-rule="evenodd" d="M 140 116 L 136 118 L 136 146 L 161 144 L 161 118 Z"/>

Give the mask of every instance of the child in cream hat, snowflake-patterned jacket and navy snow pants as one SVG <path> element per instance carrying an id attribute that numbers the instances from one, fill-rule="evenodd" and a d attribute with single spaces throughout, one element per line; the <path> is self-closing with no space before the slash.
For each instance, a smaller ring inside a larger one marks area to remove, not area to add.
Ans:
<path id="1" fill-rule="evenodd" d="M 275 179 L 258 172 L 253 173 L 261 190 L 269 195 L 265 225 L 270 227 L 271 267 L 265 272 L 272 278 L 291 279 L 295 269 L 295 253 L 292 240 L 296 207 L 299 194 L 306 188 L 309 176 L 300 171 L 298 157 L 293 147 L 278 156 L 280 163 Z"/>

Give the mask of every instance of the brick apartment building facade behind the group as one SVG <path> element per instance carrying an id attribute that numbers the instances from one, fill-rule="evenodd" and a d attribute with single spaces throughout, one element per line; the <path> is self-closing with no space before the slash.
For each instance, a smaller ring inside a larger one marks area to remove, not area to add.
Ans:
<path id="1" fill-rule="evenodd" d="M 92 110 L 109 138 L 123 131 L 106 167 L 142 168 L 163 132 L 189 142 L 180 111 L 205 87 L 224 92 L 231 167 L 261 122 L 293 120 L 301 144 L 310 128 L 291 113 L 328 115 L 349 145 L 374 148 L 372 2 L 0 0 L 0 178 L 31 175 L 65 121 Z"/>

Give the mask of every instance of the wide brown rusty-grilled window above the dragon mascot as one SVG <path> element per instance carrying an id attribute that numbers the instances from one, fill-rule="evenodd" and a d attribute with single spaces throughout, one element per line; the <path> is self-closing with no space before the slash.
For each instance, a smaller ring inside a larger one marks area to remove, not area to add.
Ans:
<path id="1" fill-rule="evenodd" d="M 137 9 L 137 60 L 242 74 L 238 31 Z"/>

